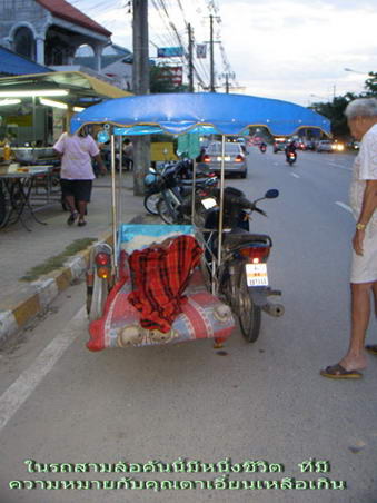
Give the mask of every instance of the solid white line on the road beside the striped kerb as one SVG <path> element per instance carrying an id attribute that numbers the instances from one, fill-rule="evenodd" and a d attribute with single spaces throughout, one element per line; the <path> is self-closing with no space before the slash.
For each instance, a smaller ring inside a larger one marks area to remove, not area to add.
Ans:
<path id="1" fill-rule="evenodd" d="M 44 347 L 30 367 L 22 372 L 18 379 L 0 396 L 0 431 L 76 339 L 80 333 L 78 328 L 82 327 L 83 315 L 85 306 L 76 314 L 65 331 Z"/>

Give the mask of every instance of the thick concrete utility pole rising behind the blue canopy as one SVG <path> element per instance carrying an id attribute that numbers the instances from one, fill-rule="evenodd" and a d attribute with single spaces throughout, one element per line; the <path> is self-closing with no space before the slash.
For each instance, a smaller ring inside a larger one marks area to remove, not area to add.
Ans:
<path id="1" fill-rule="evenodd" d="M 132 2 L 132 91 L 135 95 L 149 93 L 149 40 L 148 40 L 148 1 L 133 0 Z M 145 193 L 143 177 L 150 164 L 150 138 L 133 137 L 133 195 L 142 196 Z"/>

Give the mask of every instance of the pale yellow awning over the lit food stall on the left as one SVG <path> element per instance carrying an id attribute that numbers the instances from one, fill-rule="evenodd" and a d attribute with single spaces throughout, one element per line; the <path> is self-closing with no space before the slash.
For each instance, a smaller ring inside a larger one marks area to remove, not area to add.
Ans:
<path id="1" fill-rule="evenodd" d="M 82 105 L 88 99 L 121 98 L 132 96 L 110 83 L 82 71 L 52 71 L 49 73 L 32 73 L 17 77 L 0 78 L 0 91 L 66 89 L 67 97 L 59 101 L 70 105 Z"/>

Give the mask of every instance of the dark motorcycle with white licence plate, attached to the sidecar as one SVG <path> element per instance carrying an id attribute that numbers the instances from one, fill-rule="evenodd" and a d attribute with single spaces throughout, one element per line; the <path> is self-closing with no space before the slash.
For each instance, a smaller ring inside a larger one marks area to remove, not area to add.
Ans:
<path id="1" fill-rule="evenodd" d="M 249 231 L 249 214 L 257 211 L 267 216 L 257 206 L 262 199 L 278 197 L 276 189 L 268 190 L 262 198 L 249 201 L 241 190 L 227 187 L 224 190 L 224 230 L 221 239 L 221 263 L 216 269 L 218 293 L 238 316 L 244 337 L 255 342 L 260 333 L 261 310 L 271 316 L 281 316 L 284 306 L 268 302 L 271 295 L 281 295 L 268 284 L 267 260 L 272 240 L 265 234 Z M 215 270 L 214 259 L 218 256 L 219 190 L 205 200 L 207 209 L 205 219 L 205 259 L 207 272 Z M 211 230 L 214 229 L 214 230 Z"/>

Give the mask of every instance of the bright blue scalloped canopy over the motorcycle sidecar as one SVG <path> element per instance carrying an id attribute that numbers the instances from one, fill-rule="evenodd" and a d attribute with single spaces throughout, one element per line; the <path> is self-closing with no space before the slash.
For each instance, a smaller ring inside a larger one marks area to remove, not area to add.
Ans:
<path id="1" fill-rule="evenodd" d="M 120 128 L 142 126 L 140 132 L 133 129 L 133 135 L 198 132 L 202 126 L 206 132 L 222 135 L 240 135 L 249 126 L 265 126 L 274 136 L 292 135 L 300 128 L 330 132 L 328 119 L 299 105 L 255 96 L 210 92 L 111 99 L 73 116 L 71 132 L 88 124 L 103 122 Z"/>

